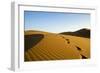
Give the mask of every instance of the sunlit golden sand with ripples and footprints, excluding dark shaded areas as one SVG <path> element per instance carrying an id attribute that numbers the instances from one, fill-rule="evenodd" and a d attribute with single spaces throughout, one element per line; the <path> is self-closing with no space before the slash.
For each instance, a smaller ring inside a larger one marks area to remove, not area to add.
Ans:
<path id="1" fill-rule="evenodd" d="M 90 39 L 88 38 L 40 31 L 25 33 L 27 33 L 25 36 L 43 35 L 41 41 L 25 50 L 24 60 L 26 62 L 90 58 Z"/>

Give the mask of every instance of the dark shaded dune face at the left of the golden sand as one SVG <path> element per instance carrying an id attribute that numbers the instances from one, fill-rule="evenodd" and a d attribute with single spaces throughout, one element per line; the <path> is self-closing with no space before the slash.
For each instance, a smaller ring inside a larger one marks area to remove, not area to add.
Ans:
<path id="1" fill-rule="evenodd" d="M 38 44 L 42 39 L 44 38 L 44 35 L 42 34 L 32 34 L 32 35 L 25 35 L 25 51 L 28 49 L 34 47 L 36 44 Z"/>

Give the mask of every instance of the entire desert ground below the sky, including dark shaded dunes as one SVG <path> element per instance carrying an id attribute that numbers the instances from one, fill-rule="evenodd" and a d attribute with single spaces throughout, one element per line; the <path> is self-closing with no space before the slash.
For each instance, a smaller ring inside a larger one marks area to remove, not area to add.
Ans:
<path id="1" fill-rule="evenodd" d="M 90 58 L 90 29 L 61 33 L 27 30 L 24 41 L 25 62 Z"/>

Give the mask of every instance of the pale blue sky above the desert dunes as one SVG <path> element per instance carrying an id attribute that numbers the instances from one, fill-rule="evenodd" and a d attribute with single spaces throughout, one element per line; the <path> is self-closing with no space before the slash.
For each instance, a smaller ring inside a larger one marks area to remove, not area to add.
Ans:
<path id="1" fill-rule="evenodd" d="M 53 33 L 90 29 L 90 14 L 24 11 L 24 29 Z"/>

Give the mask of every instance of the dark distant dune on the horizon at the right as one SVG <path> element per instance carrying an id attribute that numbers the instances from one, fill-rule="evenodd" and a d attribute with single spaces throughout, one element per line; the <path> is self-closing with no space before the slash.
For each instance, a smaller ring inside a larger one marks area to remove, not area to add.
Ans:
<path id="1" fill-rule="evenodd" d="M 80 29 L 75 32 L 62 32 L 60 34 L 90 38 L 90 29 Z"/>

